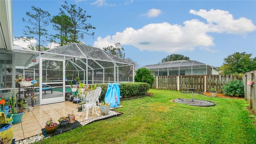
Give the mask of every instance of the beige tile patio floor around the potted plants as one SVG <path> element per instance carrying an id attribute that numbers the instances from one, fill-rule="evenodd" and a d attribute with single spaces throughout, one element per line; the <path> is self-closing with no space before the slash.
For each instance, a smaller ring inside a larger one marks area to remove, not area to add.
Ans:
<path id="1" fill-rule="evenodd" d="M 86 117 L 86 112 L 83 112 L 81 116 L 78 116 L 81 112 L 77 110 L 77 104 L 72 102 L 59 102 L 55 104 L 46 104 L 41 106 L 34 106 L 31 112 L 28 109 L 23 109 L 24 111 L 22 122 L 14 124 L 14 137 L 15 141 L 22 140 L 24 138 L 29 138 L 38 134 L 42 134 L 42 128 L 45 126 L 45 122 L 48 118 L 52 118 L 56 123 L 59 124 L 58 119 L 61 116 L 66 116 L 74 110 L 76 115 L 76 120 L 78 122 L 84 121 Z M 89 110 L 90 112 L 90 110 Z M 97 108 L 98 114 L 100 114 L 100 109 Z M 97 117 L 96 112 L 89 113 L 88 119 Z"/>

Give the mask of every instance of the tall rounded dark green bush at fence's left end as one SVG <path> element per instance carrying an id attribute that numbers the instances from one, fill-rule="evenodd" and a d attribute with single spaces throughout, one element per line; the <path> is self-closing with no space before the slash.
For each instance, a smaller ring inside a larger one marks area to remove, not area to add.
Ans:
<path id="1" fill-rule="evenodd" d="M 134 81 L 135 82 L 146 82 L 146 83 L 150 84 L 150 88 L 152 88 L 155 78 L 151 74 L 150 70 L 148 70 L 146 68 L 140 68 L 136 71 Z"/>

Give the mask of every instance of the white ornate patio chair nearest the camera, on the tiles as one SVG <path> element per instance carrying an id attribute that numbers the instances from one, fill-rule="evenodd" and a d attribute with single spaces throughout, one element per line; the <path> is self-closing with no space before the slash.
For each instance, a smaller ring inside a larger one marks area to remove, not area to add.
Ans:
<path id="1" fill-rule="evenodd" d="M 83 110 L 81 112 L 81 114 L 86 110 L 86 120 L 88 119 L 88 112 L 89 109 L 92 108 L 92 113 L 94 113 L 93 108 L 95 108 L 95 112 L 97 114 L 97 116 L 99 116 L 99 114 L 97 113 L 96 110 L 96 101 L 98 98 L 98 90 L 92 90 L 90 92 L 88 92 L 88 94 L 86 95 L 86 103 L 83 103 Z M 81 114 L 79 114 L 79 116 L 81 116 Z"/>

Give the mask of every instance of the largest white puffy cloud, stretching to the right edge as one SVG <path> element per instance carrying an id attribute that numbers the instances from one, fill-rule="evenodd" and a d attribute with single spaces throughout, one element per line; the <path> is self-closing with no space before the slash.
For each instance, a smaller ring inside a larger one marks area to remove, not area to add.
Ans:
<path id="1" fill-rule="evenodd" d="M 179 52 L 203 48 L 216 52 L 217 50 L 210 49 L 214 46 L 214 38 L 208 35 L 209 32 L 245 35 L 256 30 L 251 20 L 246 18 L 235 20 L 227 11 L 190 10 L 190 13 L 205 18 L 207 23 L 192 19 L 185 21 L 184 26 L 163 22 L 148 24 L 138 30 L 126 28 L 113 36 L 98 37 L 94 46 L 103 48 L 120 42 L 122 45 L 133 45 L 141 51 Z"/>

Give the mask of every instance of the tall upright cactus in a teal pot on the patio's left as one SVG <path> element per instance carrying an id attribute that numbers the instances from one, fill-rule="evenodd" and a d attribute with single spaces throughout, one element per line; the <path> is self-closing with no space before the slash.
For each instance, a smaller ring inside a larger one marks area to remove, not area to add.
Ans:
<path id="1" fill-rule="evenodd" d="M 13 89 L 12 90 L 12 96 L 10 97 L 10 104 L 12 108 L 12 114 L 13 114 L 13 122 L 12 124 L 17 124 L 21 122 L 22 116 L 24 112 L 21 111 L 21 108 L 18 108 L 18 110 L 15 112 L 15 104 L 16 104 L 16 91 Z M 10 117 L 12 114 L 8 114 L 8 117 Z"/>

